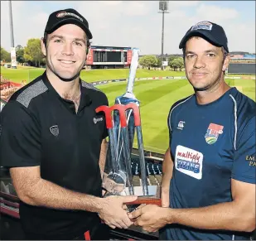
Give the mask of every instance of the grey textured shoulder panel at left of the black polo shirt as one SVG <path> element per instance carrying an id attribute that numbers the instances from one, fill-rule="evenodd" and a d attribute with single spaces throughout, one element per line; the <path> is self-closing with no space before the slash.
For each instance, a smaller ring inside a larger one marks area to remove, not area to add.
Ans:
<path id="1" fill-rule="evenodd" d="M 43 80 L 37 81 L 35 84 L 31 84 L 29 87 L 24 89 L 22 93 L 17 95 L 17 102 L 25 106 L 29 106 L 31 99 L 34 99 L 36 96 L 46 92 L 48 88 L 44 84 Z"/>

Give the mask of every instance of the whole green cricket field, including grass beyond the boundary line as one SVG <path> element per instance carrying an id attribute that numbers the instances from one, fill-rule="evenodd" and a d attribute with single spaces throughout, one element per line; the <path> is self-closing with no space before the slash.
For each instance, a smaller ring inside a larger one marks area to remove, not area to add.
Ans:
<path id="1" fill-rule="evenodd" d="M 9 80 L 27 83 L 41 75 L 43 69 L 1 69 L 1 75 Z M 129 70 L 83 70 L 81 79 L 87 82 L 99 80 L 127 79 Z M 185 76 L 184 72 L 161 70 L 138 70 L 137 78 L 163 76 Z M 228 75 L 241 76 L 240 80 L 225 79 L 230 86 L 235 86 L 242 93 L 255 101 L 255 75 Z M 251 79 L 254 77 L 254 80 Z M 115 82 L 99 85 L 109 99 L 109 105 L 114 99 L 125 93 L 127 82 Z M 185 98 L 193 93 L 191 84 L 187 80 L 138 80 L 134 84 L 134 94 L 141 103 L 142 135 L 145 150 L 164 153 L 168 146 L 167 115 L 178 99 Z M 136 143 L 134 143 L 136 147 Z"/>

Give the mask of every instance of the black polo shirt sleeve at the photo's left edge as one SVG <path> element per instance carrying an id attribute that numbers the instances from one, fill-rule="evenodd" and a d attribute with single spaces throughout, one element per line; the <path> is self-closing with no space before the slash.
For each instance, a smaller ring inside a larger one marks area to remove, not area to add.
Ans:
<path id="1" fill-rule="evenodd" d="M 10 101 L 2 108 L 0 122 L 1 166 L 39 166 L 40 128 L 29 109 L 16 101 Z"/>

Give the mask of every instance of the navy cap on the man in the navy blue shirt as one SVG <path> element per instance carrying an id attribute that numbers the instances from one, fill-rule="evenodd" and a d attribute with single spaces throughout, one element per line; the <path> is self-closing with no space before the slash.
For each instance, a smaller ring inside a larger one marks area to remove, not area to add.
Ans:
<path id="1" fill-rule="evenodd" d="M 223 27 L 213 22 L 198 22 L 196 25 L 192 26 L 186 35 L 182 38 L 179 48 L 182 49 L 186 46 L 186 41 L 188 41 L 191 36 L 200 36 L 209 41 L 214 46 L 224 47 L 225 51 L 229 52 L 228 39 L 225 34 Z"/>

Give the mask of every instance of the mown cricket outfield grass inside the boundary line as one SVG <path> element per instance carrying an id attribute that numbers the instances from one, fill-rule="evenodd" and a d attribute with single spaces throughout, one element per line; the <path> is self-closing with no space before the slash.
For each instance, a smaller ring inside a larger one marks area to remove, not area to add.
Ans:
<path id="1" fill-rule="evenodd" d="M 255 101 L 255 80 L 226 80 L 231 86 L 238 85 L 243 93 Z M 126 82 L 99 85 L 109 99 L 124 94 Z M 193 94 L 187 80 L 142 80 L 134 84 L 134 94 L 141 103 L 142 136 L 144 148 L 148 151 L 164 153 L 168 147 L 167 116 L 171 105 L 177 100 Z M 137 147 L 134 142 L 134 147 Z"/>

